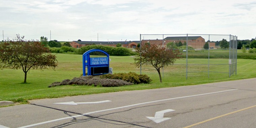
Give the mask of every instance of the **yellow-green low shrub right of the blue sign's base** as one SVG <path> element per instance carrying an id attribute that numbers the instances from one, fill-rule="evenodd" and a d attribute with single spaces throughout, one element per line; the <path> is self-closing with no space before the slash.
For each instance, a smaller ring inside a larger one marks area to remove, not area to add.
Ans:
<path id="1" fill-rule="evenodd" d="M 122 79 L 126 82 L 131 82 L 133 84 L 149 84 L 152 82 L 152 79 L 146 75 L 139 75 L 135 72 L 129 72 L 129 73 L 115 73 L 115 74 L 104 74 L 101 75 L 100 78 L 107 78 L 107 79 Z"/>

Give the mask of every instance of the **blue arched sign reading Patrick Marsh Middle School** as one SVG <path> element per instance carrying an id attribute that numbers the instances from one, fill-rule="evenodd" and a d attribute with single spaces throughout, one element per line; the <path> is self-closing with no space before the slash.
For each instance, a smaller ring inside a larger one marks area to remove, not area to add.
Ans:
<path id="1" fill-rule="evenodd" d="M 90 58 L 90 53 L 102 52 L 107 57 Z M 101 75 L 109 72 L 109 54 L 100 49 L 91 49 L 83 54 L 83 76 L 86 75 Z"/>

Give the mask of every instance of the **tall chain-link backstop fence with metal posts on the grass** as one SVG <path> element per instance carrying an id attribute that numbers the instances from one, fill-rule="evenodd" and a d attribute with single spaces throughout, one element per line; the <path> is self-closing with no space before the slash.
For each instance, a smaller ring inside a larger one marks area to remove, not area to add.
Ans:
<path id="1" fill-rule="evenodd" d="M 237 36 L 209 34 L 140 34 L 140 43 L 179 49 L 182 59 L 162 69 L 162 77 L 208 77 L 217 79 L 236 74 Z M 151 65 L 140 73 L 158 75 Z"/>

